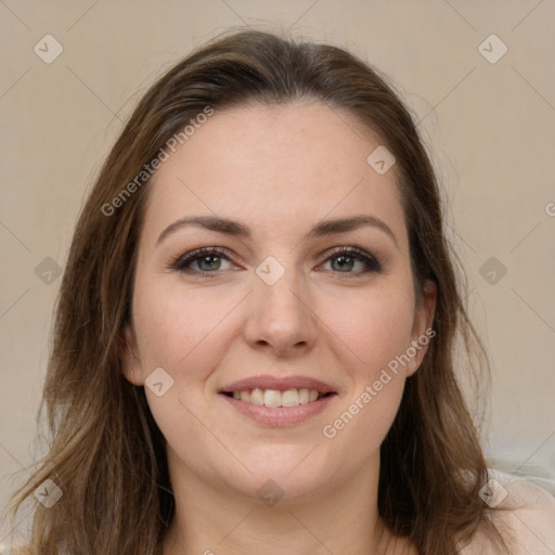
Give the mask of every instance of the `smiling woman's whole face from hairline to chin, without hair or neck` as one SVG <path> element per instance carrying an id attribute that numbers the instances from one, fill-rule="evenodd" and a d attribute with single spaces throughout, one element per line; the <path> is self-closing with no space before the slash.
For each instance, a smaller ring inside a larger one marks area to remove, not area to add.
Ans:
<path id="1" fill-rule="evenodd" d="M 379 144 L 319 103 L 234 107 L 156 173 L 125 373 L 170 470 L 293 500 L 378 464 L 435 304 L 414 296 L 395 166 L 366 162 Z"/>

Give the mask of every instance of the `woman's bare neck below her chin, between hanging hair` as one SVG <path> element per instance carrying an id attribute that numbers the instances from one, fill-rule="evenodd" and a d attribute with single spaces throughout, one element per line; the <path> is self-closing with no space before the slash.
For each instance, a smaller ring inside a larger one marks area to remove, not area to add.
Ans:
<path id="1" fill-rule="evenodd" d="M 163 554 L 385 553 L 391 537 L 377 513 L 379 454 L 375 459 L 347 481 L 324 483 L 310 495 L 286 495 L 270 506 L 208 482 L 168 448 L 176 511 Z"/>

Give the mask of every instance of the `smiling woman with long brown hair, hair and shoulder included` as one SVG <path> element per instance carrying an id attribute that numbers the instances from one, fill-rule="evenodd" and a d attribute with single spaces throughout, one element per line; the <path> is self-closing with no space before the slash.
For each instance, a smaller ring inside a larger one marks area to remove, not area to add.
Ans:
<path id="1" fill-rule="evenodd" d="M 15 499 L 43 498 L 30 553 L 555 550 L 555 501 L 488 473 L 457 336 L 479 371 L 392 90 L 334 47 L 209 43 L 141 100 L 79 218 L 53 442 Z"/>

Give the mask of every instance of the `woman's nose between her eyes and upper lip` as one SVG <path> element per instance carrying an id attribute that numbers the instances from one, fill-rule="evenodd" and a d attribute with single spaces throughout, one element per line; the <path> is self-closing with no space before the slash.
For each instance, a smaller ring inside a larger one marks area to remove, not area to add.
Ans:
<path id="1" fill-rule="evenodd" d="M 294 269 L 273 285 L 254 275 L 244 337 L 255 349 L 278 357 L 298 356 L 310 350 L 318 335 L 315 307 L 306 282 Z"/>

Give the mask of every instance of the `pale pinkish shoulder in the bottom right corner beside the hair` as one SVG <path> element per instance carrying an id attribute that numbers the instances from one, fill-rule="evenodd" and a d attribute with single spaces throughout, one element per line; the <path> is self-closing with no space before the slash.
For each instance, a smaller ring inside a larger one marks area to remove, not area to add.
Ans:
<path id="1" fill-rule="evenodd" d="M 491 521 L 507 544 L 511 555 L 555 554 L 555 496 L 535 483 L 500 470 L 490 470 L 482 499 L 494 511 Z M 487 530 L 480 531 L 463 555 L 504 555 Z"/>

